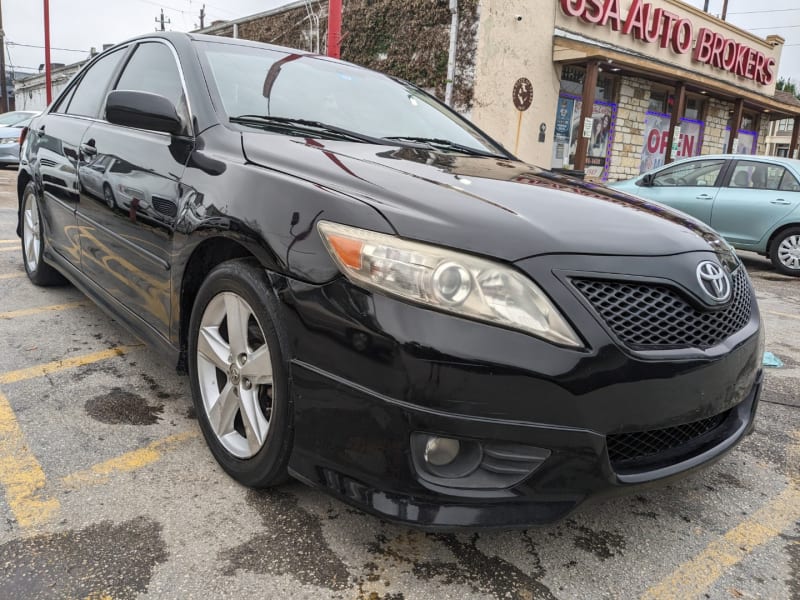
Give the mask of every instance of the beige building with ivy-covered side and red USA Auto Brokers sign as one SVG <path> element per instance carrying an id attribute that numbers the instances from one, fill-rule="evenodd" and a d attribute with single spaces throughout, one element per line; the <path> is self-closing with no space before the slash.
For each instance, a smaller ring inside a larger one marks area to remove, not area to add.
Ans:
<path id="1" fill-rule="evenodd" d="M 764 154 L 771 122 L 800 119 L 775 92 L 781 37 L 679 0 L 454 4 L 454 107 L 535 164 L 629 178 L 676 157 Z M 301 1 L 202 31 L 324 52 L 326 19 L 326 2 Z M 451 19 L 443 0 L 345 0 L 342 58 L 443 98 Z"/>

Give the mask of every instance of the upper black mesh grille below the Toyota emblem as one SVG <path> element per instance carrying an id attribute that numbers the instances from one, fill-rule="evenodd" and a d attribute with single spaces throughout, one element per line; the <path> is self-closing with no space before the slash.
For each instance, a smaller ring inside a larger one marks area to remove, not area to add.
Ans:
<path id="1" fill-rule="evenodd" d="M 573 279 L 623 344 L 635 349 L 710 348 L 750 321 L 750 283 L 743 269 L 732 279 L 732 299 L 722 310 L 698 310 L 660 285 Z"/>

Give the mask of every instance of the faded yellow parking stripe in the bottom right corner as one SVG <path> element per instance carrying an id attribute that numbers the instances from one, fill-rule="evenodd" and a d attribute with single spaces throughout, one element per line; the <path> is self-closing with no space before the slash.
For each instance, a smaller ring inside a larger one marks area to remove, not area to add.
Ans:
<path id="1" fill-rule="evenodd" d="M 797 465 L 796 461 L 800 459 L 800 432 L 795 432 L 793 437 L 795 442 L 789 447 L 789 465 Z M 789 486 L 777 497 L 648 589 L 642 600 L 683 600 L 701 596 L 726 569 L 781 535 L 798 519 L 800 475 L 794 474 Z"/>

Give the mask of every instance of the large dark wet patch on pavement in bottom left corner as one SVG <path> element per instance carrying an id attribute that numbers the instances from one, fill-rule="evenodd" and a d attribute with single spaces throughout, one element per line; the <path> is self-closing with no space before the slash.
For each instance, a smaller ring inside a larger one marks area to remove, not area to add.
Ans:
<path id="1" fill-rule="evenodd" d="M 147 517 L 0 545 L 0 598 L 133 600 L 166 562 L 161 525 Z"/>

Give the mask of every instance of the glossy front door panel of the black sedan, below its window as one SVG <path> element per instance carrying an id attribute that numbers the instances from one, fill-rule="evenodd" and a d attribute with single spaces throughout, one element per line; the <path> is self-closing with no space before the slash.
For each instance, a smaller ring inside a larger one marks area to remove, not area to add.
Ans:
<path id="1" fill-rule="evenodd" d="M 171 318 L 172 235 L 183 195 L 180 177 L 189 142 L 169 135 L 97 122 L 83 146 L 110 165 L 101 194 L 82 186 L 78 210 L 84 273 L 165 337 Z M 89 161 L 80 176 L 92 177 Z"/>

